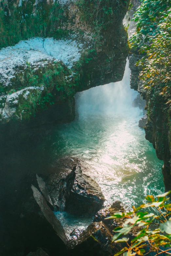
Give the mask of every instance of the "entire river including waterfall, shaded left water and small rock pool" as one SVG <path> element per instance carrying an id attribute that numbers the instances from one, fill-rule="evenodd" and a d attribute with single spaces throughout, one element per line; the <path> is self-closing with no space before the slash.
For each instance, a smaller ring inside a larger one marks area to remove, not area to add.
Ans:
<path id="1" fill-rule="evenodd" d="M 87 174 L 101 187 L 105 205 L 119 200 L 130 209 L 144 203 L 145 195 L 164 192 L 163 162 L 138 127 L 143 111 L 132 107 L 138 92 L 130 89 L 129 82 L 127 62 L 121 82 L 76 94 L 73 122 L 54 126 L 41 139 L 23 145 L 8 142 L 1 161 L 4 194 L 9 187 L 15 193 L 26 173 L 56 171 L 56 160 L 64 156 L 79 157 L 92 166 Z M 56 214 L 69 230 L 92 222 L 92 216 Z"/>

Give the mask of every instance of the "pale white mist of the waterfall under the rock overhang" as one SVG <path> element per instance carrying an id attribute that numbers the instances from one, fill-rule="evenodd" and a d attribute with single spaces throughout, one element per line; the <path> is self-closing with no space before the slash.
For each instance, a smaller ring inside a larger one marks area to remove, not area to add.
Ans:
<path id="1" fill-rule="evenodd" d="M 127 61 L 122 81 L 78 92 L 76 109 L 80 116 L 117 114 L 123 116 L 133 110 L 132 101 L 137 95 L 137 91 L 130 89 L 130 69 Z"/>

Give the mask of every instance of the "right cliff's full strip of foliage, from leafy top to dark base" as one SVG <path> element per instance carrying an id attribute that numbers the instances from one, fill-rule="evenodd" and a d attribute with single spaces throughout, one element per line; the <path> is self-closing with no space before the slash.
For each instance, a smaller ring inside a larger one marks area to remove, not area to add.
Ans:
<path id="1" fill-rule="evenodd" d="M 136 65 L 146 94 L 145 136 L 156 148 L 158 158 L 164 161 L 164 183 L 170 190 L 171 1 L 143 0 L 134 20 L 136 33 L 130 46 L 131 52 L 141 54 Z"/>

